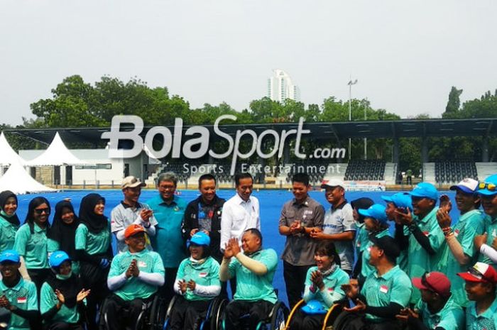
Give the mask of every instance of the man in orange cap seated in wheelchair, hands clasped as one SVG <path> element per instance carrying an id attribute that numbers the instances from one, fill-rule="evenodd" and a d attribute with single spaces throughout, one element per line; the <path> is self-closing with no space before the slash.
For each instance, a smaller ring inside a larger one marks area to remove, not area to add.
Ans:
<path id="1" fill-rule="evenodd" d="M 128 251 L 119 253 L 112 260 L 107 279 L 112 293 L 104 308 L 109 330 L 132 326 L 143 304 L 151 302 L 158 287 L 164 284 L 162 259 L 158 253 L 146 249 L 145 233 L 138 224 L 128 226 L 124 231 Z"/>

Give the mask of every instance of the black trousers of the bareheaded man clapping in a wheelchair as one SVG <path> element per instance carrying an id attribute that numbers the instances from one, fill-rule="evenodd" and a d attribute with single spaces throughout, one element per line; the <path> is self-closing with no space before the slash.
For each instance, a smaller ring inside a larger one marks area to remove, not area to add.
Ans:
<path id="1" fill-rule="evenodd" d="M 231 300 L 226 306 L 226 329 L 239 330 L 240 317 L 249 314 L 249 329 L 256 330 L 259 321 L 266 319 L 271 312 L 274 304 L 266 302 L 266 300 L 258 300 L 257 302 L 246 302 L 244 300 Z"/>

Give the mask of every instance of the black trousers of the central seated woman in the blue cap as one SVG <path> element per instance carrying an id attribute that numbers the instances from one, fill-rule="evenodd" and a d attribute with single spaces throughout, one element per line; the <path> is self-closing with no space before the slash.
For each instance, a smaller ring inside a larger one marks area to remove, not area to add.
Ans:
<path id="1" fill-rule="evenodd" d="M 197 330 L 200 320 L 207 314 L 209 303 L 210 300 L 188 301 L 178 296 L 171 314 L 170 330 Z"/>

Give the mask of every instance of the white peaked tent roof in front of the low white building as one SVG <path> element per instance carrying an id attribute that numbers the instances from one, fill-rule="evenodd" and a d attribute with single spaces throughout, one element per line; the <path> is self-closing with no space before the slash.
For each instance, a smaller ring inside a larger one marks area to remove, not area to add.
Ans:
<path id="1" fill-rule="evenodd" d="M 57 132 L 48 146 L 47 150 L 33 160 L 26 162 L 28 166 L 62 166 L 62 165 L 85 165 L 87 162 L 73 155 L 62 142 Z"/>

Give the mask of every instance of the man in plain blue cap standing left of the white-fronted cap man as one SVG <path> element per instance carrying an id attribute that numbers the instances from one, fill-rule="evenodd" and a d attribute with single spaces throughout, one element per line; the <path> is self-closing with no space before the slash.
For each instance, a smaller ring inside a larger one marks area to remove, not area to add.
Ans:
<path id="1" fill-rule="evenodd" d="M 403 246 L 408 246 L 408 275 L 421 277 L 425 272 L 436 270 L 444 233 L 437 222 L 437 188 L 431 183 L 420 182 L 410 195 L 413 214 L 409 209 L 407 214 L 400 211 L 395 213 L 410 233 L 408 242 L 405 240 L 403 243 Z M 420 298 L 420 290 L 413 290 L 411 303 L 415 304 Z"/>

